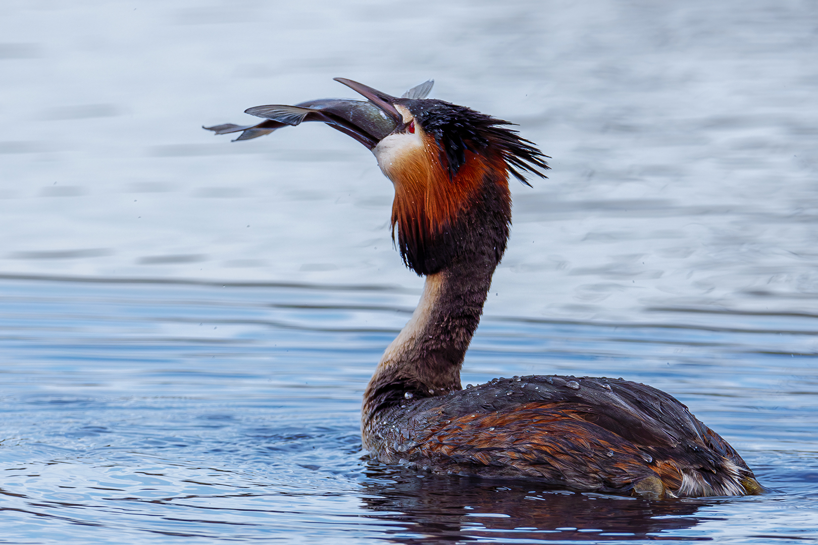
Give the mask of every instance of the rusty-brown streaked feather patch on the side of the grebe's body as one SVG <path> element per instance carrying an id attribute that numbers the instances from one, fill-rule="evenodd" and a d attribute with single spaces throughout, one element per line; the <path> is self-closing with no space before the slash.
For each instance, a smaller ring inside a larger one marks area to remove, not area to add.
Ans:
<path id="1" fill-rule="evenodd" d="M 525 476 L 551 485 L 581 483 L 595 490 L 621 489 L 656 476 L 636 445 L 555 403 L 529 403 L 434 424 L 412 438 L 417 445 L 406 454 L 429 458 L 446 471 Z"/>

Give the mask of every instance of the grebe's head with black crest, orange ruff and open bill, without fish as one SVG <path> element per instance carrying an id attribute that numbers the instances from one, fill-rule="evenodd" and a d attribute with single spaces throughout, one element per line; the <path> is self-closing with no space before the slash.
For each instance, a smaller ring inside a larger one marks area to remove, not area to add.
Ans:
<path id="1" fill-rule="evenodd" d="M 464 230 L 478 229 L 492 243 L 496 266 L 510 223 L 508 174 L 527 185 L 521 171 L 546 177 L 538 170 L 548 168 L 546 156 L 507 121 L 411 91 L 397 98 L 335 79 L 396 123 L 371 150 L 395 187 L 393 239 L 404 263 L 418 275 L 434 275 L 474 249 L 464 243 Z M 464 222 L 487 198 L 496 201 L 486 209 L 488 223 Z"/>

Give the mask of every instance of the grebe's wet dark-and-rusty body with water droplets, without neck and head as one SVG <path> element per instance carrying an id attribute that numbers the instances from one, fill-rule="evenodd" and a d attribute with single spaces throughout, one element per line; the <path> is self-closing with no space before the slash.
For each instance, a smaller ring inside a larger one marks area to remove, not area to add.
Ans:
<path id="1" fill-rule="evenodd" d="M 758 490 L 739 454 L 685 405 L 622 379 L 501 378 L 375 418 L 378 458 L 438 473 L 658 497 Z"/>

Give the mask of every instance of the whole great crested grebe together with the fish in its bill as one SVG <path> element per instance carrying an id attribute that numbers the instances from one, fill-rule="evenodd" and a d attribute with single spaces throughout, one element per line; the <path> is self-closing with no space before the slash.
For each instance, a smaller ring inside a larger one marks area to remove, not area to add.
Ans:
<path id="1" fill-rule="evenodd" d="M 386 463 L 438 474 L 524 479 L 645 498 L 759 494 L 730 444 L 685 405 L 621 378 L 495 378 L 461 387 L 511 221 L 509 174 L 545 177 L 546 155 L 511 123 L 426 99 L 397 98 L 335 78 L 367 100 L 319 99 L 245 110 L 257 125 L 206 127 L 237 140 L 322 121 L 366 145 L 393 182 L 393 238 L 425 275 L 420 302 L 364 393 L 363 445 Z"/>

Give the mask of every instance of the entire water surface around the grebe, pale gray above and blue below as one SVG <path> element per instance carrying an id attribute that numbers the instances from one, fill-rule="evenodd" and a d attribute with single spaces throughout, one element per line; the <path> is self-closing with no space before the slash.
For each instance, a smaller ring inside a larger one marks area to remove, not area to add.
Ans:
<path id="1" fill-rule="evenodd" d="M 771 0 L 2 3 L 0 541 L 818 539 L 816 39 L 815 2 Z M 435 78 L 553 157 L 512 185 L 465 382 L 649 382 L 780 492 L 634 508 L 362 460 L 421 284 L 391 185 L 321 124 L 199 128 L 335 76 Z"/>

